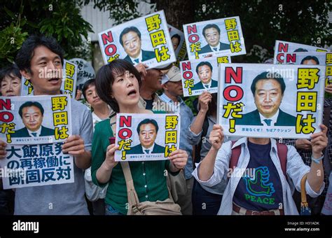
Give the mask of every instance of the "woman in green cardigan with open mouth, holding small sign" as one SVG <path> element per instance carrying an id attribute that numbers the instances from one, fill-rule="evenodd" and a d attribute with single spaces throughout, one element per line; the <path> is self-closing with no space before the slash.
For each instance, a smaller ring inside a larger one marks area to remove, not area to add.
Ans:
<path id="1" fill-rule="evenodd" d="M 99 97 L 109 104 L 116 113 L 152 113 L 139 108 L 139 87 L 141 76 L 132 64 L 122 59 L 116 59 L 99 69 L 95 82 Z M 109 138 L 114 137 L 111 119 L 104 120 L 95 126 L 92 142 L 92 181 L 97 186 L 107 189 L 106 215 L 127 214 L 127 187 L 123 169 L 114 160 L 118 149 L 115 144 L 109 144 Z M 165 169 L 177 174 L 186 165 L 186 151 L 177 149 L 170 154 L 170 160 L 128 162 L 134 188 L 139 202 L 155 202 L 167 200 L 169 197 Z"/>

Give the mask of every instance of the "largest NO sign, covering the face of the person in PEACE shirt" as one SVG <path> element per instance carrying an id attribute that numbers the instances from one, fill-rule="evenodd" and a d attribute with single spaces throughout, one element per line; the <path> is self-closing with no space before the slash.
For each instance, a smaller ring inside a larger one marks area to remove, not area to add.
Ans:
<path id="1" fill-rule="evenodd" d="M 228 136 L 305 138 L 319 132 L 325 68 L 221 64 L 218 122 Z"/>

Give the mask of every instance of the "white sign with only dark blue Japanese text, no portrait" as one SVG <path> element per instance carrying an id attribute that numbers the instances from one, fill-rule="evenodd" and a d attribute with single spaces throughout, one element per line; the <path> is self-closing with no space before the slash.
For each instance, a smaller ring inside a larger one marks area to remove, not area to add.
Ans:
<path id="1" fill-rule="evenodd" d="M 8 145 L 0 160 L 4 189 L 74 183 L 74 160 L 62 143 Z"/>

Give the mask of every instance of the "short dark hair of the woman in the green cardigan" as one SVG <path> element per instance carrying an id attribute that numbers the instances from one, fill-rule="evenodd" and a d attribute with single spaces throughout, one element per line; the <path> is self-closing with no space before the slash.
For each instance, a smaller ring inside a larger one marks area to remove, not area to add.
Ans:
<path id="1" fill-rule="evenodd" d="M 112 85 L 115 80 L 113 74 L 116 73 L 122 75 L 125 71 L 130 71 L 130 73 L 134 74 L 138 80 L 139 87 L 141 87 L 141 76 L 139 75 L 139 71 L 137 71 L 137 69 L 125 59 L 115 59 L 111 63 L 102 66 L 97 72 L 95 79 L 95 87 L 99 98 L 106 102 L 106 104 L 109 104 L 111 109 L 116 113 L 119 112 L 118 102 L 111 97 L 113 92 Z"/>

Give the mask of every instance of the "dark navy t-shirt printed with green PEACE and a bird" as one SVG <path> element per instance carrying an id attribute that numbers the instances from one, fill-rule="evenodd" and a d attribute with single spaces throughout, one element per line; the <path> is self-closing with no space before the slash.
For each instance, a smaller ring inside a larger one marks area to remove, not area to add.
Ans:
<path id="1" fill-rule="evenodd" d="M 254 211 L 281 209 L 282 184 L 270 157 L 271 144 L 248 141 L 248 148 L 249 164 L 237 185 L 233 202 Z"/>

